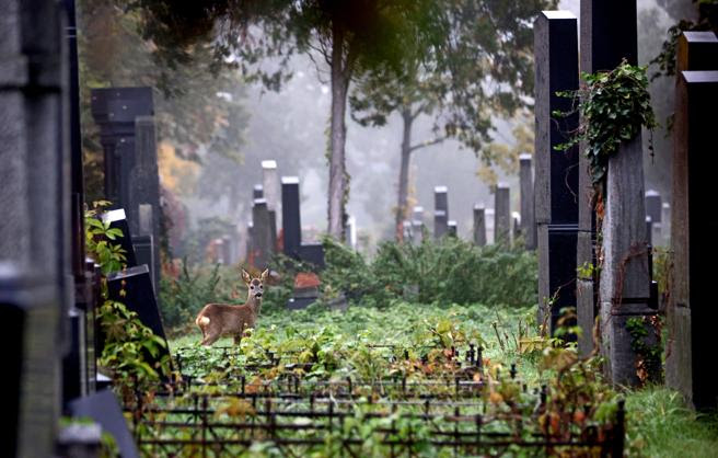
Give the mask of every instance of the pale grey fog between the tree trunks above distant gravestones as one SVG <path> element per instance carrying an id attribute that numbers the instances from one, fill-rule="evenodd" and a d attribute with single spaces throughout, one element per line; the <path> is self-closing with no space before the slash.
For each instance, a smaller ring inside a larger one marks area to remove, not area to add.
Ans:
<path id="1" fill-rule="evenodd" d="M 579 15 L 579 0 L 564 0 L 560 8 Z M 660 4 L 659 4 L 660 3 Z M 667 7 L 667 3 L 671 7 Z M 690 2 L 688 2 L 690 3 Z M 684 11 L 681 11 L 683 8 Z M 685 14 L 690 5 L 676 8 L 668 0 L 639 1 L 639 60 L 646 65 L 655 57 L 664 39 L 668 27 L 676 22 L 673 14 Z M 247 114 L 242 130 L 244 142 L 236 146 L 242 161 L 236 165 L 235 185 L 238 202 L 217 196 L 207 197 L 201 186 L 193 195 L 182 196 L 189 210 L 189 220 L 196 225 L 201 218 L 220 217 L 229 222 L 246 226 L 251 219 L 252 190 L 260 183 L 260 161 L 275 159 L 280 175 L 297 175 L 302 193 L 302 226 L 309 237 L 326 229 L 328 168 L 325 153 L 331 94 L 326 69 L 317 68 L 306 56 L 298 55 L 291 61 L 293 77 L 279 92 L 266 91 L 258 85 L 244 88 L 242 104 Z M 241 82 L 238 81 L 238 84 Z M 673 81 L 659 79 L 651 85 L 653 105 L 659 122 L 671 113 Z M 496 119 L 496 141 L 511 146 L 511 122 Z M 431 121 L 419 118 L 414 130 L 415 141 L 431 138 Z M 397 175 L 402 124 L 391 118 L 382 128 L 362 127 L 347 116 L 347 167 L 351 176 L 348 213 L 357 221 L 361 236 L 369 245 L 393 237 L 393 211 L 396 206 Z M 646 142 L 648 135 L 645 136 Z M 171 142 L 171 138 L 163 138 Z M 671 140 L 659 129 L 653 136 L 656 157 L 646 154 L 647 188 L 657 188 L 664 199 L 670 193 Z M 533 151 L 525 151 L 533 152 Z M 217 173 L 225 173 L 225 162 L 205 160 L 199 172 L 205 182 L 213 182 Z M 424 206 L 427 222 L 433 207 L 432 190 L 437 185 L 449 187 L 450 219 L 459 225 L 459 236 L 470 238 L 474 204 L 494 206 L 488 183 L 477 175 L 482 163 L 473 151 L 462 149 L 456 141 L 418 150 L 412 159 L 410 192 L 415 205 Z M 166 164 L 161 163 L 163 181 L 169 180 Z M 519 210 L 518 176 L 505 175 L 499 180 L 511 187 L 511 206 Z M 665 201 L 664 201 L 665 202 Z"/>

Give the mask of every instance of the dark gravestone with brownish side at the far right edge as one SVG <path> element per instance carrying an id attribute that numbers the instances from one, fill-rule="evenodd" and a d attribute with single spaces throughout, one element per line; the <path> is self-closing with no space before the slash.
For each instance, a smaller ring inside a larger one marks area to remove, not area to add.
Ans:
<path id="1" fill-rule="evenodd" d="M 715 112 L 718 101 L 718 39 L 706 32 L 679 38 L 671 251 L 673 275 L 667 308 L 669 348 L 665 381 L 696 409 L 716 409 L 718 385 L 713 366 L 715 323 L 713 271 L 705 260 L 716 252 L 718 219 L 711 207 L 713 180 L 718 157 Z M 703 71 L 700 71 L 703 70 Z"/>

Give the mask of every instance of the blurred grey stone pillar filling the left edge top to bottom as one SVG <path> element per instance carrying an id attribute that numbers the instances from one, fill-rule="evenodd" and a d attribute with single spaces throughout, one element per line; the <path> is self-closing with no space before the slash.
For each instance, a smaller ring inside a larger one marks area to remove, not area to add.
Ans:
<path id="1" fill-rule="evenodd" d="M 61 3 L 0 0 L 0 456 L 53 456 L 73 302 Z"/>

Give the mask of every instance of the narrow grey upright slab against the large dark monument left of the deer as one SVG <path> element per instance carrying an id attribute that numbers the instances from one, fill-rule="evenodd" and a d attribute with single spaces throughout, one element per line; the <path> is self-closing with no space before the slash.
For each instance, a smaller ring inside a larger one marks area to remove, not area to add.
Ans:
<path id="1" fill-rule="evenodd" d="M 135 167 L 130 172 L 130 233 L 148 237 L 151 261 L 147 263 L 152 274 L 155 296 L 160 285 L 160 175 L 158 170 L 154 118 L 138 116 L 135 121 Z M 132 218 L 137 218 L 132 221 Z M 137 250 L 137 248 L 136 248 Z"/>

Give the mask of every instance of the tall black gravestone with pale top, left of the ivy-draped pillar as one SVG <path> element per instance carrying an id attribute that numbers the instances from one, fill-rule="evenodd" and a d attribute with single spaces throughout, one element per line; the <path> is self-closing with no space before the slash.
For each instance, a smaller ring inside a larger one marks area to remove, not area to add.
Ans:
<path id="1" fill-rule="evenodd" d="M 552 113 L 572 111 L 572 102 L 556 93 L 578 89 L 577 26 L 567 11 L 543 11 L 534 23 L 538 318 L 552 333 L 561 309 L 576 307 L 578 149 L 556 147 L 577 130 L 578 116 L 554 118 Z"/>

